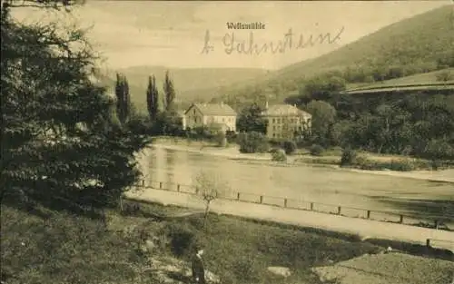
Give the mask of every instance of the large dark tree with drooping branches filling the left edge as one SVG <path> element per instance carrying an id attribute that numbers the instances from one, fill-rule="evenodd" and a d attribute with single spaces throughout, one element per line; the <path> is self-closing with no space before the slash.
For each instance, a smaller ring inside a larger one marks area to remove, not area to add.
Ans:
<path id="1" fill-rule="evenodd" d="M 141 174 L 134 154 L 148 139 L 115 123 L 113 98 L 91 81 L 83 31 L 19 24 L 10 9 L 1 11 L 0 201 L 78 213 L 116 205 Z"/>

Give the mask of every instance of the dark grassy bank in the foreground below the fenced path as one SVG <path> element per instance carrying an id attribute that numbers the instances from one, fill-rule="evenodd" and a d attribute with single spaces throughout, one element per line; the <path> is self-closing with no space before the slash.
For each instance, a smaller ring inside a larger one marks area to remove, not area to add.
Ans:
<path id="1" fill-rule="evenodd" d="M 146 261 L 133 240 L 122 233 L 133 225 L 168 240 L 157 255 L 187 260 L 192 245 L 201 245 L 207 269 L 219 275 L 222 283 L 321 283 L 312 266 L 381 250 L 368 243 L 225 216 L 212 215 L 208 230 L 202 230 L 202 218 L 197 216 L 151 219 L 173 210 L 141 205 L 140 211 L 131 212 L 133 217 L 110 212 L 104 224 L 52 212 L 37 216 L 2 206 L 2 279 L 8 284 L 160 283 L 153 272 L 143 272 Z M 293 274 L 275 279 L 266 273 L 268 266 L 287 266 Z"/>

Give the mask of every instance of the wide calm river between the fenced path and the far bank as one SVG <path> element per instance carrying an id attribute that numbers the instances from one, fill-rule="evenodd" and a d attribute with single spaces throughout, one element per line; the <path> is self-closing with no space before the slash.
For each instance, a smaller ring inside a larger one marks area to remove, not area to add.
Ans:
<path id="1" fill-rule="evenodd" d="M 391 177 L 372 173 L 336 170 L 311 165 L 279 165 L 271 162 L 239 161 L 201 153 L 164 148 L 147 150 L 141 158 L 147 184 L 163 188 L 191 185 L 201 171 L 211 172 L 228 184 L 230 197 L 282 204 L 280 197 L 298 204 L 316 202 L 371 211 L 396 211 L 419 216 L 454 216 L 454 184 Z M 250 195 L 246 194 L 250 193 Z M 252 195 L 253 194 L 253 195 Z M 300 206 L 300 205 L 298 205 Z M 328 211 L 331 211 L 331 208 Z M 327 210 L 327 209 L 322 209 Z M 449 221 L 450 223 L 450 221 Z"/>

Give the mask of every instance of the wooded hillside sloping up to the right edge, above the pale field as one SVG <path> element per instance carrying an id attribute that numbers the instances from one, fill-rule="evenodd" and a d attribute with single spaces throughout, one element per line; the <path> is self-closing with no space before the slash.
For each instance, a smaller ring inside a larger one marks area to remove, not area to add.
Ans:
<path id="1" fill-rule="evenodd" d="M 439 54 L 452 53 L 454 7 L 446 5 L 402 20 L 346 44 L 330 54 L 292 64 L 273 73 L 274 78 L 298 78 L 367 64 L 435 63 Z"/>

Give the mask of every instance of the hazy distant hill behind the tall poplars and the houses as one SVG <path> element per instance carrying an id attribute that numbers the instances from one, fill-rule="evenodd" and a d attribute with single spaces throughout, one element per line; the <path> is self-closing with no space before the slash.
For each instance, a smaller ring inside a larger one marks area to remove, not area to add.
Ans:
<path id="1" fill-rule="evenodd" d="M 168 68 L 164 66 L 134 66 L 119 70 L 109 70 L 99 79 L 114 90 L 116 72 L 123 73 L 128 79 L 132 101 L 139 109 L 143 109 L 148 76 L 154 74 L 159 88 L 162 90 L 163 79 Z M 262 77 L 266 70 L 252 68 L 170 68 L 169 72 L 179 101 L 206 100 L 220 95 L 222 86 L 241 83 Z"/>

